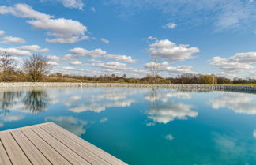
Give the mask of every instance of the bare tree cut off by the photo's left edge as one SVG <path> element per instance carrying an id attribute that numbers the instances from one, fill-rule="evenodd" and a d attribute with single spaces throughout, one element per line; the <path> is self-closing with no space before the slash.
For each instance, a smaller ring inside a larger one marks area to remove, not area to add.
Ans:
<path id="1" fill-rule="evenodd" d="M 2 71 L 2 81 L 9 81 L 9 76 L 16 68 L 17 64 L 11 54 L 0 52 L 0 69 Z"/>

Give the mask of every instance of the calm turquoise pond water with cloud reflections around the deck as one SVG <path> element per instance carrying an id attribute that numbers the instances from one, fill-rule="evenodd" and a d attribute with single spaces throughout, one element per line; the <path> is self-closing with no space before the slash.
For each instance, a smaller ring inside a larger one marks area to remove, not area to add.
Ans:
<path id="1" fill-rule="evenodd" d="M 0 130 L 55 122 L 126 163 L 256 164 L 256 95 L 1 88 Z"/>

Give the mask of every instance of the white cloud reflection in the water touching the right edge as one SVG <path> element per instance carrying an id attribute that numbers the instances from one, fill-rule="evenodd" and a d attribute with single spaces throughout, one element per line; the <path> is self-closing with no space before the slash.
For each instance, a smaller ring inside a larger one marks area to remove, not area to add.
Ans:
<path id="1" fill-rule="evenodd" d="M 235 113 L 256 114 L 256 99 L 250 94 L 222 92 L 220 96 L 210 99 L 209 104 L 213 109 L 227 107 Z"/>

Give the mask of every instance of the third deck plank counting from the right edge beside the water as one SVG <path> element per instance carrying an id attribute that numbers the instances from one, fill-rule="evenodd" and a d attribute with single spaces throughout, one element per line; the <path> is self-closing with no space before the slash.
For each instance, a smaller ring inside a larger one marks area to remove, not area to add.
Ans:
<path id="1" fill-rule="evenodd" d="M 60 153 L 63 157 L 65 157 L 69 162 L 73 164 L 80 164 L 80 165 L 86 165 L 90 164 L 85 159 L 81 158 L 81 156 L 78 156 L 75 152 L 73 152 L 70 148 L 67 148 L 66 145 L 63 145 L 59 141 L 57 141 L 54 137 L 52 137 L 50 134 L 46 133 L 43 129 L 40 127 L 32 128 L 32 130 L 40 136 L 43 141 L 46 141 L 47 144 L 50 144 L 52 148 L 55 148 L 55 150 Z"/>

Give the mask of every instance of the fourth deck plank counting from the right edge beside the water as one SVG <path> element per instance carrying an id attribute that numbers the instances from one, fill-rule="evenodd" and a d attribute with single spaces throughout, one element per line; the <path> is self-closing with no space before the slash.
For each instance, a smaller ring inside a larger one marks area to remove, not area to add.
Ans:
<path id="1" fill-rule="evenodd" d="M 43 156 L 47 157 L 52 164 L 63 165 L 63 164 L 71 164 L 67 161 L 63 156 L 61 156 L 58 152 L 55 151 L 54 148 L 51 148 L 49 144 L 41 139 L 41 137 L 37 136 L 36 133 L 32 131 L 32 129 L 22 129 L 21 132 L 25 134 L 25 136 L 32 141 L 32 144 L 36 146 L 43 153 Z"/>

